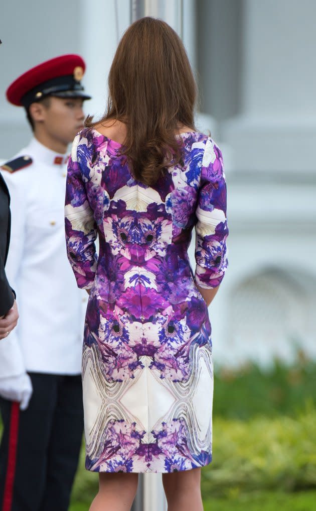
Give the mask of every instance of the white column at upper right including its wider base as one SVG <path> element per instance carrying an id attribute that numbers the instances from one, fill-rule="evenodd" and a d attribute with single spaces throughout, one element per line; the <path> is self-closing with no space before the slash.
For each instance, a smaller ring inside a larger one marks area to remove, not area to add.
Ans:
<path id="1" fill-rule="evenodd" d="M 313 171 L 315 16 L 314 0 L 245 0 L 241 111 L 223 130 L 236 170 Z"/>

